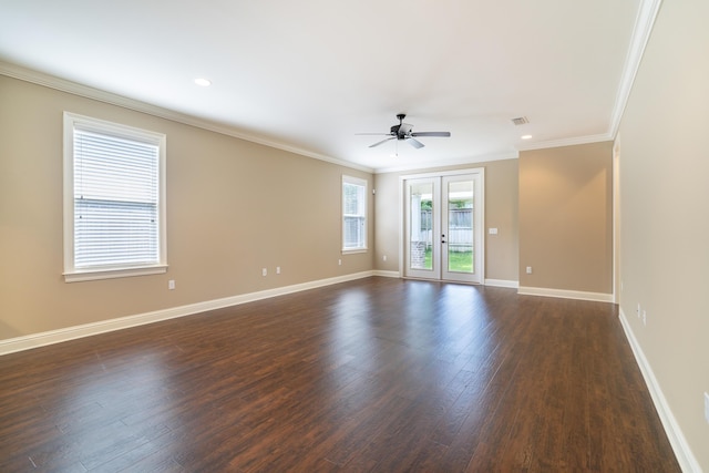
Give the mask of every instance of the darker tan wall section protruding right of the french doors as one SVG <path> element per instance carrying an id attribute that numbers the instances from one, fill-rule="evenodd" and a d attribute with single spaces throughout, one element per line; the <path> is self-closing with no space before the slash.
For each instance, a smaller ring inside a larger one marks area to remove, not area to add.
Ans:
<path id="1" fill-rule="evenodd" d="M 612 142 L 520 154 L 520 287 L 613 294 Z"/>

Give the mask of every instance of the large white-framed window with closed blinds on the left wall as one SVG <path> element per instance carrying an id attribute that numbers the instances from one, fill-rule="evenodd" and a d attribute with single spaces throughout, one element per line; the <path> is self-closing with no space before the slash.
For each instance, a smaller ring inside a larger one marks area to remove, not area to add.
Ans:
<path id="1" fill-rule="evenodd" d="M 165 273 L 165 135 L 64 112 L 64 279 Z"/>

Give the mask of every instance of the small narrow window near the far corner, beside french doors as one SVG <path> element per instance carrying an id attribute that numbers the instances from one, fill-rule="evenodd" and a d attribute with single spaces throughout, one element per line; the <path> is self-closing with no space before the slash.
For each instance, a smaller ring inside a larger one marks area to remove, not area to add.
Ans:
<path id="1" fill-rule="evenodd" d="M 342 250 L 367 249 L 367 181 L 342 176 Z"/>

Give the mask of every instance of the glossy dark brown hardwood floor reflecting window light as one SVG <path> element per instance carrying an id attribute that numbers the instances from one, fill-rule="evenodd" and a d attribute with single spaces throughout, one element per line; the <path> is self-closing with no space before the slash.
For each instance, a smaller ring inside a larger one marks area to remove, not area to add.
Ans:
<path id="1" fill-rule="evenodd" d="M 679 471 L 615 306 L 389 278 L 0 357 L 35 469 Z"/>

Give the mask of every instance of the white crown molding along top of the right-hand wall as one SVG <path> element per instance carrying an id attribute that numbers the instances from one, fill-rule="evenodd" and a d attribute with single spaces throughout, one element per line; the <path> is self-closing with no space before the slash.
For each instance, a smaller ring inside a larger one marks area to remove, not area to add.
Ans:
<path id="1" fill-rule="evenodd" d="M 616 103 L 610 115 L 608 134 L 613 138 L 618 134 L 623 113 L 630 97 L 635 76 L 640 68 L 643 54 L 650 39 L 650 33 L 653 32 L 653 27 L 655 25 L 655 20 L 657 19 L 657 13 L 661 4 L 662 0 L 640 0 L 640 8 L 635 19 L 633 35 L 630 37 L 630 48 L 626 55 L 625 68 L 620 76 L 620 85 L 616 94 Z"/>

